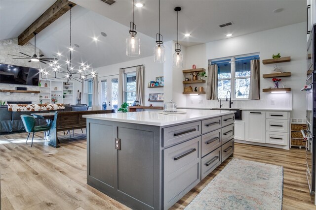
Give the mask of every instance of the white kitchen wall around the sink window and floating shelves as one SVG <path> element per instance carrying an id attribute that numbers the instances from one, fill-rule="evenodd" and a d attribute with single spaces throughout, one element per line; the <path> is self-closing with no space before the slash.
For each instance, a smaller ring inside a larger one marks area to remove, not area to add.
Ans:
<path id="1" fill-rule="evenodd" d="M 250 53 L 260 53 L 261 60 L 272 58 L 280 53 L 282 57 L 291 56 L 290 62 L 278 63 L 284 72 L 291 72 L 291 77 L 282 77 L 281 85 L 291 88 L 290 93 L 263 93 L 262 89 L 274 86 L 272 78 L 263 79 L 262 74 L 271 73 L 274 64 L 263 65 L 261 68 L 261 100 L 234 100 L 232 107 L 237 108 L 292 108 L 292 117 L 305 118 L 305 93 L 300 90 L 306 80 L 306 22 L 272 30 L 260 31 L 243 36 L 226 38 L 219 41 L 200 44 L 186 49 L 186 66 L 203 67 L 207 70 L 207 60 L 237 56 Z M 204 84 L 206 87 L 206 84 Z M 293 98 L 293 99 L 292 99 Z M 218 107 L 217 100 L 205 100 L 205 95 L 187 96 L 188 107 Z M 275 99 L 275 105 L 271 104 Z M 228 107 L 228 102 L 223 102 Z"/>

